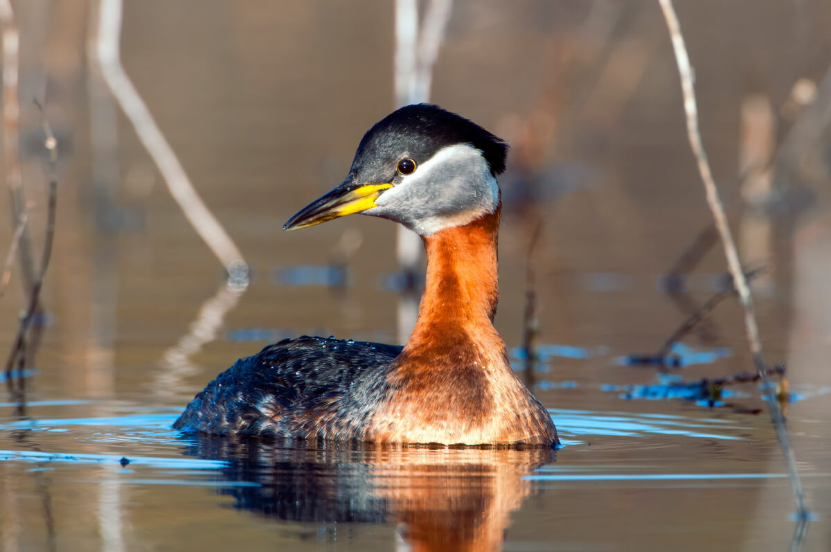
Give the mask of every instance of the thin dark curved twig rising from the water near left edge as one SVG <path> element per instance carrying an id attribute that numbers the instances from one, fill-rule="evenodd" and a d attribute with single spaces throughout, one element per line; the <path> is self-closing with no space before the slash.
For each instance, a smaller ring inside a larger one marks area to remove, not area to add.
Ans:
<path id="1" fill-rule="evenodd" d="M 43 238 L 43 252 L 41 257 L 40 270 L 37 277 L 32 282 L 32 291 L 29 294 L 29 302 L 26 313 L 17 326 L 17 336 L 15 336 L 12 344 L 12 350 L 6 360 L 6 377 L 9 386 L 12 385 L 12 370 L 15 361 L 18 366 L 18 379 L 20 381 L 19 392 L 22 393 L 25 380 L 23 377 L 23 369 L 26 367 L 26 336 L 29 328 L 32 327 L 32 322 L 38 310 L 38 304 L 41 297 L 41 289 L 43 287 L 43 277 L 46 275 L 49 268 L 49 259 L 52 257 L 52 241 L 55 237 L 55 214 L 57 211 L 57 140 L 52 133 L 52 128 L 49 126 L 46 116 L 43 113 L 43 108 L 35 101 L 35 106 L 41 112 L 43 133 L 46 135 L 44 145 L 49 151 L 49 197 L 47 200 L 47 229 Z"/>

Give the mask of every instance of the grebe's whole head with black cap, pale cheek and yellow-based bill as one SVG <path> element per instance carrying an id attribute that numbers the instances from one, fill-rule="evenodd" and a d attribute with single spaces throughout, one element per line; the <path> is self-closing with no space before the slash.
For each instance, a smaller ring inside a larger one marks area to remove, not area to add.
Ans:
<path id="1" fill-rule="evenodd" d="M 361 213 L 429 236 L 499 206 L 496 175 L 508 145 L 438 106 L 402 107 L 366 132 L 347 180 L 283 226 L 293 230 Z"/>

